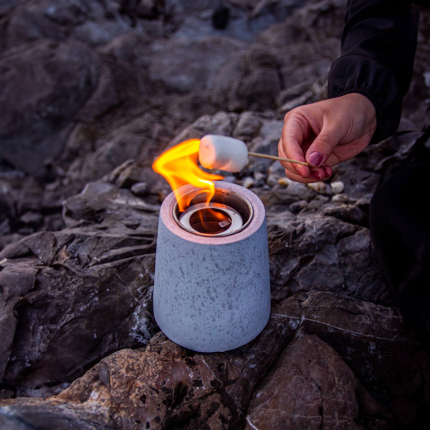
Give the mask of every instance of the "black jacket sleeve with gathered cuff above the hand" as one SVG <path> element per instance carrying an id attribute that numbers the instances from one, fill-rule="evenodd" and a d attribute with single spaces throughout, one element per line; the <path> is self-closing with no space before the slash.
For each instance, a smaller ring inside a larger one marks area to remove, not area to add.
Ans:
<path id="1" fill-rule="evenodd" d="M 359 92 L 372 101 L 377 120 L 372 143 L 399 126 L 416 45 L 410 1 L 348 0 L 341 57 L 329 73 L 329 98 Z"/>

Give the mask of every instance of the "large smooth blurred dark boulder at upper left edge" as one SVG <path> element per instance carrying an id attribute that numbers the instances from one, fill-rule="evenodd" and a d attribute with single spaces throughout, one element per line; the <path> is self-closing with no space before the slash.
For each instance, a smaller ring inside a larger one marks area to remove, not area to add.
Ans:
<path id="1" fill-rule="evenodd" d="M 4 160 L 31 175 L 46 174 L 46 163 L 61 154 L 78 111 L 95 88 L 97 62 L 97 55 L 77 41 L 38 40 L 3 52 Z"/>

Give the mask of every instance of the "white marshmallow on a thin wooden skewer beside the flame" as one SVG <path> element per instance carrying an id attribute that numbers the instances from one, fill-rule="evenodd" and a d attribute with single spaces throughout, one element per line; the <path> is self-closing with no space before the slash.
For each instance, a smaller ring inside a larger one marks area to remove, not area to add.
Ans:
<path id="1" fill-rule="evenodd" d="M 206 169 L 240 172 L 248 160 L 248 149 L 239 139 L 206 135 L 200 139 L 199 160 Z"/>

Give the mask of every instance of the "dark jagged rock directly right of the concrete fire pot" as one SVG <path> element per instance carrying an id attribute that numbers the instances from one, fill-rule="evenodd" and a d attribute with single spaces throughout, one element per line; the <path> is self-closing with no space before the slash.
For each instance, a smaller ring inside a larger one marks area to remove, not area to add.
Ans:
<path id="1" fill-rule="evenodd" d="M 337 215 L 326 215 L 331 214 Z M 350 219 L 340 221 L 326 215 L 300 212 L 283 224 L 272 224 L 273 218 L 267 218 L 273 299 L 286 298 L 287 291 L 312 288 L 362 300 L 386 300 L 369 230 L 350 224 Z"/>

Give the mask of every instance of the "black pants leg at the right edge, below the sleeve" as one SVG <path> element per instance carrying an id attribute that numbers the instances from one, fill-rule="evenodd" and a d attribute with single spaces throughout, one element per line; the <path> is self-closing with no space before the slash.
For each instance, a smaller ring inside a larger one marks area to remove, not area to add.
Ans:
<path id="1" fill-rule="evenodd" d="M 426 133 L 427 134 L 427 133 Z M 430 150 L 424 142 L 390 166 L 370 204 L 385 281 L 415 333 L 430 344 Z"/>

